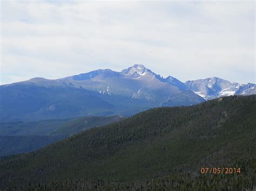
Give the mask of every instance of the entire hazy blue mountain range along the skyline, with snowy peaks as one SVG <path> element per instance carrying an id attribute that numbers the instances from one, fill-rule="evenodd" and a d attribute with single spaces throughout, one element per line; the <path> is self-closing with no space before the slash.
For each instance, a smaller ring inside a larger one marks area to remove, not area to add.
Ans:
<path id="1" fill-rule="evenodd" d="M 79 116 L 131 116 L 163 106 L 194 105 L 228 95 L 256 94 L 255 84 L 218 77 L 185 83 L 134 65 L 121 72 L 98 69 L 57 80 L 35 77 L 0 86 L 0 120 Z"/>

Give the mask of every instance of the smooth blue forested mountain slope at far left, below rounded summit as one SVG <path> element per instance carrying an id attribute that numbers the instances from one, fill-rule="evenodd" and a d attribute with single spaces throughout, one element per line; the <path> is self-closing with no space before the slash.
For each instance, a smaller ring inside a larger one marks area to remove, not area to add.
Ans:
<path id="1" fill-rule="evenodd" d="M 36 121 L 95 113 L 112 114 L 115 109 L 113 105 L 90 90 L 69 87 L 65 83 L 61 83 L 61 86 L 51 86 L 53 82 L 48 80 L 39 80 L 37 83 L 32 80 L 32 82 L 10 84 L 7 87 L 0 86 L 2 121 L 12 119 Z"/>

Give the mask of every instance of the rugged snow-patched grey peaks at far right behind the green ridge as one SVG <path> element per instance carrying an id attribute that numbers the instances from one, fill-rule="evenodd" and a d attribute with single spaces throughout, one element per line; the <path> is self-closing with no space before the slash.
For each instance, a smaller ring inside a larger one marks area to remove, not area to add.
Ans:
<path id="1" fill-rule="evenodd" d="M 188 89 L 203 97 L 205 100 L 230 95 L 256 94 L 256 85 L 253 83 L 240 84 L 211 77 L 202 80 L 186 81 Z"/>

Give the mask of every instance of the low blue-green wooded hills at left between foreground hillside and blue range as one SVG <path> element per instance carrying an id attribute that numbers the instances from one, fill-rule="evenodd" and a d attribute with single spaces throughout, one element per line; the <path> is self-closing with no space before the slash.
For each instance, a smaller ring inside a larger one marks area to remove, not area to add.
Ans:
<path id="1" fill-rule="evenodd" d="M 51 143 L 57 142 L 78 132 L 97 126 L 114 123 L 124 117 L 80 117 L 66 120 L 47 120 L 39 122 L 11 122 L 4 123 L 5 136 L 0 136 L 0 156 L 35 151 Z M 14 126 L 13 128 L 11 126 Z M 3 127 L 0 126 L 0 130 Z M 14 131 L 16 129 L 16 131 Z M 9 132 L 9 133 L 6 133 Z M 16 136 L 13 136 L 16 135 Z M 23 136 L 21 136 L 23 135 Z"/>

